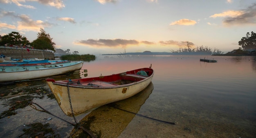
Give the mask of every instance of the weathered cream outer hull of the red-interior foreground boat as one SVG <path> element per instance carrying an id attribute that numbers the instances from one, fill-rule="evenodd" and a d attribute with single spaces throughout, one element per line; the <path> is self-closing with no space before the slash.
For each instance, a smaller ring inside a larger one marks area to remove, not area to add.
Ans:
<path id="1" fill-rule="evenodd" d="M 102 105 L 127 99 L 144 90 L 152 81 L 153 74 L 141 81 L 124 85 L 113 85 L 110 87 L 88 87 L 73 86 L 54 83 L 48 80 L 49 88 L 52 90 L 61 110 L 68 116 L 72 116 L 70 101 L 74 115 L 89 112 Z M 68 95 L 70 94 L 70 99 Z"/>

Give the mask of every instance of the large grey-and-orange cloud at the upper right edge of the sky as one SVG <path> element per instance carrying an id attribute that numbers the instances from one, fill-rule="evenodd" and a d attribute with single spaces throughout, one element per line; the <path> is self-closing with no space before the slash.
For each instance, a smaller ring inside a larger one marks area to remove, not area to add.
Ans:
<path id="1" fill-rule="evenodd" d="M 225 11 L 223 13 L 211 15 L 210 17 L 225 17 L 222 22 L 225 26 L 245 24 L 256 25 L 256 3 L 241 11 Z"/>

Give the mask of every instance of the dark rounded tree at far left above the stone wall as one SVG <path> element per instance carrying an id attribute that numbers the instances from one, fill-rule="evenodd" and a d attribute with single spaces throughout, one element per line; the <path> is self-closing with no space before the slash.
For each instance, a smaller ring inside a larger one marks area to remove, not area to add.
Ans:
<path id="1" fill-rule="evenodd" d="M 26 46 L 29 45 L 29 41 L 26 37 L 22 37 L 18 32 L 11 32 L 8 35 L 2 36 L 0 45 L 16 45 L 16 46 Z"/>

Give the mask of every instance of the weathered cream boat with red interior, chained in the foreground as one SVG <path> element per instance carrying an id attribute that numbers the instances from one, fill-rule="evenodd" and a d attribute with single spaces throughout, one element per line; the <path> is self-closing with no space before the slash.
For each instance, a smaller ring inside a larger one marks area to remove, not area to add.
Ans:
<path id="1" fill-rule="evenodd" d="M 140 68 L 109 76 L 46 81 L 61 110 L 74 116 L 137 94 L 150 84 L 153 74 L 151 68 Z"/>

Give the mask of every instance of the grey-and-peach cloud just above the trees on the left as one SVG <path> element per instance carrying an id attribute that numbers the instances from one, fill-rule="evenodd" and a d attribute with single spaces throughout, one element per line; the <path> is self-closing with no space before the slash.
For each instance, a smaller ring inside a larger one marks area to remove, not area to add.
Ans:
<path id="1" fill-rule="evenodd" d="M 20 19 L 20 21 L 17 21 L 17 27 L 16 29 L 18 31 L 40 31 L 40 28 L 49 27 L 52 26 L 52 24 L 49 24 L 48 22 L 43 22 L 41 20 L 32 20 L 29 18 L 29 16 L 25 14 L 16 15 L 13 11 L 2 11 L 0 13 L 0 17 L 4 16 L 10 16 L 16 19 Z"/>

